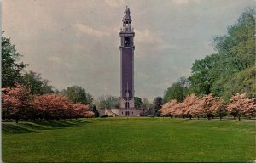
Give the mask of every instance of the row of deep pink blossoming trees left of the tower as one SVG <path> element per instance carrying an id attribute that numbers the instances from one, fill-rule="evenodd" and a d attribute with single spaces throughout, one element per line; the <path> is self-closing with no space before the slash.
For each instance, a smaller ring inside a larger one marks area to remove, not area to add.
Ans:
<path id="1" fill-rule="evenodd" d="M 15 82 L 15 87 L 2 88 L 3 120 L 60 120 L 93 117 L 89 105 L 71 103 L 62 94 L 32 95 L 30 88 Z"/>

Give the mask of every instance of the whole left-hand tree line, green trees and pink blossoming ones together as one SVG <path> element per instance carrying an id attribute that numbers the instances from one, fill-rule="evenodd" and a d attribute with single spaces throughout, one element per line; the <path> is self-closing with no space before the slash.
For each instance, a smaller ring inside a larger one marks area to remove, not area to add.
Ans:
<path id="1" fill-rule="evenodd" d="M 20 53 L 2 32 L 2 119 L 52 120 L 98 116 L 90 93 L 79 86 L 55 90 L 34 71 L 25 71 Z"/>

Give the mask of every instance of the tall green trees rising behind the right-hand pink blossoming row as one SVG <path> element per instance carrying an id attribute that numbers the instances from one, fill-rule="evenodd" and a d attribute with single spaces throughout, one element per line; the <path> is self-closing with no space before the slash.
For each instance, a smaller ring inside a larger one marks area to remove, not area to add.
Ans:
<path id="1" fill-rule="evenodd" d="M 252 101 L 256 98 L 254 9 L 247 8 L 227 28 L 224 36 L 213 36 L 212 46 L 217 53 L 195 60 L 191 76 L 181 77 L 168 87 L 163 96 L 163 104 L 169 104 L 171 100 L 183 103 L 191 94 L 200 98 L 212 94 L 213 97 L 222 98 L 226 104 L 237 93 L 246 94 Z M 255 111 L 254 107 L 254 114 Z"/>

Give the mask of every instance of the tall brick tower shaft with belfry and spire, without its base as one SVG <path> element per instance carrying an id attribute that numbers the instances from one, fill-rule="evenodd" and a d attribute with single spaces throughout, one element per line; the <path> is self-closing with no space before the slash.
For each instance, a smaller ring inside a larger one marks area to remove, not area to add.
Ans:
<path id="1" fill-rule="evenodd" d="M 120 36 L 121 90 L 120 108 L 134 108 L 134 31 L 131 27 L 130 9 L 126 7 Z"/>

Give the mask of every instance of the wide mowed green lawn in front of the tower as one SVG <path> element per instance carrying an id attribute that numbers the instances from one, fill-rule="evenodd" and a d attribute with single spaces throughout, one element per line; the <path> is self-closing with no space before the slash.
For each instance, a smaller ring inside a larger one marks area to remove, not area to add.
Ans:
<path id="1" fill-rule="evenodd" d="M 3 122 L 4 162 L 253 161 L 255 121 L 97 118 Z"/>

